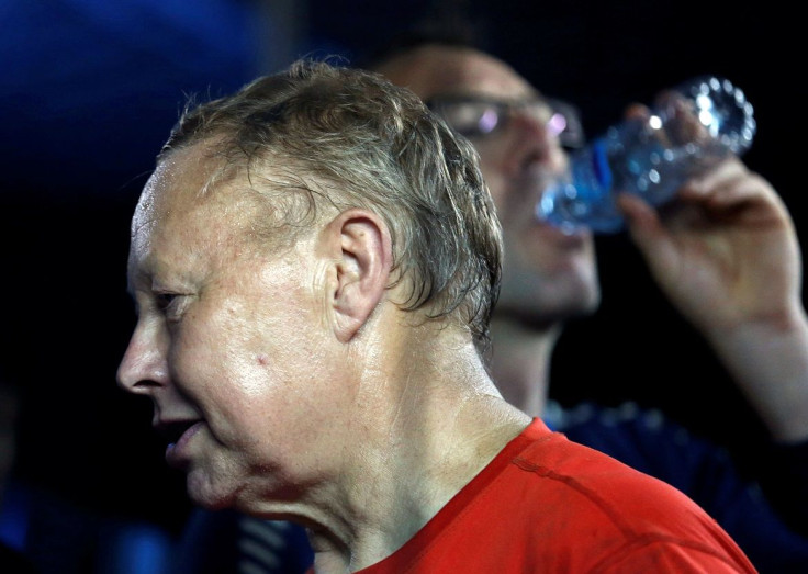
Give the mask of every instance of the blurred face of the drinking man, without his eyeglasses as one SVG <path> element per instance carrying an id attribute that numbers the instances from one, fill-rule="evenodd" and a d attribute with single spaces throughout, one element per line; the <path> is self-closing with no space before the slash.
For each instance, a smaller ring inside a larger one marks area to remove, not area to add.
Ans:
<path id="1" fill-rule="evenodd" d="M 427 103 L 436 97 L 542 99 L 513 68 L 468 48 L 420 47 L 378 71 Z M 557 134 L 540 115 L 517 109 L 502 128 L 470 140 L 503 225 L 505 260 L 495 316 L 552 323 L 593 312 L 599 286 L 591 234 L 565 235 L 538 222 L 534 212 L 542 190 L 566 168 Z"/>

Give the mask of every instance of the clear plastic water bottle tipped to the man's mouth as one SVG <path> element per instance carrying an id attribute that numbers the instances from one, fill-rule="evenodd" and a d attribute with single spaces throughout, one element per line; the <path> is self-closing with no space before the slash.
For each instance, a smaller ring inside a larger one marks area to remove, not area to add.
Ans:
<path id="1" fill-rule="evenodd" d="M 648 117 L 609 127 L 573 153 L 569 172 L 542 193 L 537 216 L 566 232 L 616 233 L 625 226 L 617 193 L 662 205 L 685 180 L 752 145 L 752 105 L 729 80 L 698 77 L 663 95 Z"/>

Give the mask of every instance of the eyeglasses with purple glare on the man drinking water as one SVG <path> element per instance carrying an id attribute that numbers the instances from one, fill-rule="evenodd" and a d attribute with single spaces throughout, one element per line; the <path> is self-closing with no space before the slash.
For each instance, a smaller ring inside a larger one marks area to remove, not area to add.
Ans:
<path id="1" fill-rule="evenodd" d="M 472 95 L 442 95 L 431 98 L 427 108 L 469 138 L 486 137 L 507 126 L 516 113 L 541 122 L 566 148 L 580 148 L 585 143 L 581 115 L 574 105 L 553 99 L 531 98 L 506 101 Z"/>

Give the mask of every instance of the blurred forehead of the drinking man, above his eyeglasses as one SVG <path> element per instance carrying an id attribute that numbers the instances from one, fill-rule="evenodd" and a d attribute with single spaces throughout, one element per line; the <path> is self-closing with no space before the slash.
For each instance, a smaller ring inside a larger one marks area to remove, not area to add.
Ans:
<path id="1" fill-rule="evenodd" d="M 508 65 L 470 48 L 425 46 L 393 58 L 379 71 L 424 100 L 439 94 L 520 99 L 536 93 Z"/>

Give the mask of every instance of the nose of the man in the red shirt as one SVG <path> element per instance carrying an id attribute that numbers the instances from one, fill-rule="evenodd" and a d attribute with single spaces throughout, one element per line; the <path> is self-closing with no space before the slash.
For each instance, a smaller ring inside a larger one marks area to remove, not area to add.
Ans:
<path id="1" fill-rule="evenodd" d="M 165 336 L 142 322 L 135 327 L 117 368 L 117 384 L 135 394 L 152 394 L 169 382 Z"/>

